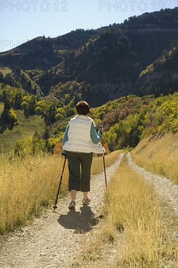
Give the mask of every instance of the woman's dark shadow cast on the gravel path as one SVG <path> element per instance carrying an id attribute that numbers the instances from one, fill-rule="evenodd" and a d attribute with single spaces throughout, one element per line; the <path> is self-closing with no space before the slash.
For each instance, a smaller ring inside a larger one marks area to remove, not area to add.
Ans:
<path id="1" fill-rule="evenodd" d="M 81 212 L 80 212 L 81 211 Z M 74 233 L 84 233 L 92 230 L 98 224 L 95 214 L 87 205 L 80 207 L 80 211 L 71 209 L 67 215 L 60 214 L 58 222 L 65 229 L 73 229 Z"/>

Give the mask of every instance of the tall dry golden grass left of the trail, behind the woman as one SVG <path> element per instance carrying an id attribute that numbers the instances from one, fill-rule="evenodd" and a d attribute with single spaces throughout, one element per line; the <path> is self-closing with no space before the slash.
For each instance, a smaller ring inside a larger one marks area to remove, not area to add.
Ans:
<path id="1" fill-rule="evenodd" d="M 106 166 L 117 153 L 105 156 Z M 110 157 L 110 158 L 109 158 Z M 24 225 L 39 216 L 44 207 L 55 203 L 64 164 L 61 155 L 0 157 L 0 234 Z M 111 163 L 112 164 L 112 163 Z M 59 198 L 68 193 L 68 164 L 63 173 Z M 103 171 L 102 157 L 94 157 L 92 174 Z"/>

